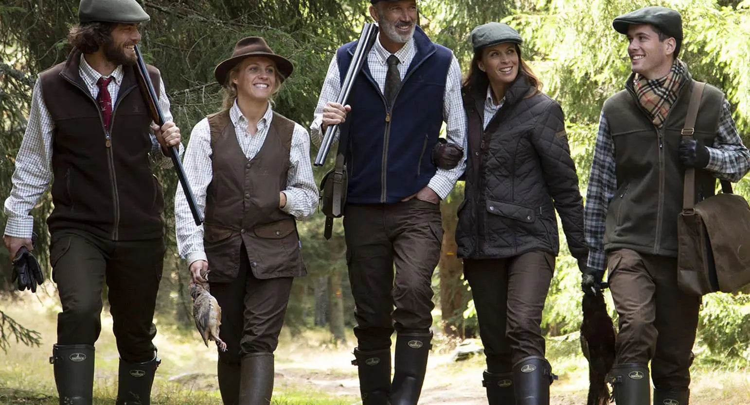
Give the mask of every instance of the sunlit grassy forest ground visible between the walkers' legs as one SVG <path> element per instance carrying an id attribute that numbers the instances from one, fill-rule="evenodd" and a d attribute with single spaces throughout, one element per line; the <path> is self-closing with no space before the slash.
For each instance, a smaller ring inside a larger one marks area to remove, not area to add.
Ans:
<path id="1" fill-rule="evenodd" d="M 36 329 L 42 347 L 12 342 L 0 351 L 0 405 L 58 404 L 52 365 L 48 358 L 55 341 L 58 304 L 52 298 L 23 295 L 17 302 L 2 302 L 0 310 Z M 205 347 L 193 330 L 157 324 L 154 343 L 162 364 L 154 381 L 152 404 L 221 404 L 216 382 L 216 350 Z M 284 329 L 276 352 L 274 405 L 359 404 L 356 367 L 350 365 L 353 337 L 336 347 L 325 329 L 292 334 Z M 420 404 L 484 405 L 481 374 L 484 357 L 453 362 L 458 342 L 437 336 L 428 363 Z M 547 358 L 559 380 L 551 387 L 552 405 L 585 404 L 588 389 L 586 360 L 580 356 L 577 335 L 547 339 Z M 114 404 L 118 356 L 112 320 L 103 314 L 97 342 L 95 404 Z M 747 362 L 709 356 L 697 347 L 692 368 L 692 405 L 750 405 L 750 371 Z"/>

